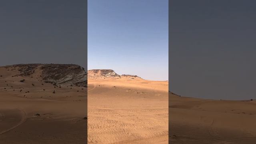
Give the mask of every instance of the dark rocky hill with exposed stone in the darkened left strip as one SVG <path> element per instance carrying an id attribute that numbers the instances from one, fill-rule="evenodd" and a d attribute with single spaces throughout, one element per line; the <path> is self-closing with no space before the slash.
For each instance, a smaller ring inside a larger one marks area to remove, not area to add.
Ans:
<path id="1" fill-rule="evenodd" d="M 6 72 L 1 69 L 0 73 L 6 76 L 34 77 L 53 85 L 87 86 L 87 73 L 76 64 L 15 64 L 4 68 Z"/>

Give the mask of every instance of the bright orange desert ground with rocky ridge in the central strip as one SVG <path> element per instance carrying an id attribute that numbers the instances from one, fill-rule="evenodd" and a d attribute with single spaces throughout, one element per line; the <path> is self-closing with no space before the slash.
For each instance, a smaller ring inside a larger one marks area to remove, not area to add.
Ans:
<path id="1" fill-rule="evenodd" d="M 168 144 L 168 82 L 89 70 L 88 144 Z"/>

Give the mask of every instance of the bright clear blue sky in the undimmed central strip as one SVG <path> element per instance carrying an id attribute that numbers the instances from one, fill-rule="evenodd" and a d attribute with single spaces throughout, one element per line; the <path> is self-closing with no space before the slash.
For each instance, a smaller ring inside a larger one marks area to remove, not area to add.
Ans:
<path id="1" fill-rule="evenodd" d="M 168 80 L 168 0 L 88 0 L 88 70 Z"/>

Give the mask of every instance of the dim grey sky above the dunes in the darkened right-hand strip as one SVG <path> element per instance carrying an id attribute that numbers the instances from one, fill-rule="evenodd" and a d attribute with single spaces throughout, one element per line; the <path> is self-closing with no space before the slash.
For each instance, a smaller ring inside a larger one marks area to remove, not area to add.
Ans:
<path id="1" fill-rule="evenodd" d="M 256 99 L 256 1 L 170 1 L 169 89 L 182 96 Z"/>

